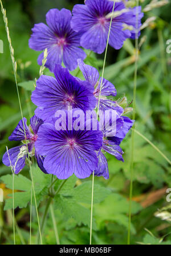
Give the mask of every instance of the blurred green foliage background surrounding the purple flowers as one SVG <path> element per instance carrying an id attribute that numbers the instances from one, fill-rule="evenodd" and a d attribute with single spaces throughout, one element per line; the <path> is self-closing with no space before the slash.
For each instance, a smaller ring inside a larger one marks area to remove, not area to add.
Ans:
<path id="1" fill-rule="evenodd" d="M 141 1 L 141 6 L 145 7 L 149 2 Z M 34 78 L 39 77 L 39 66 L 36 62 L 39 52 L 33 51 L 28 47 L 28 39 L 34 23 L 45 22 L 45 15 L 51 8 L 62 9 L 65 7 L 72 10 L 76 3 L 83 3 L 83 1 L 3 1 L 9 20 L 8 25 L 14 47 L 14 55 L 18 63 L 18 82 L 34 80 Z M 166 53 L 166 41 L 171 39 L 170 11 L 171 3 L 145 13 L 143 18 L 143 22 L 153 16 L 156 17 L 156 20 L 142 31 L 139 39 L 139 42 L 142 38 L 144 41 L 140 47 L 139 55 L 135 126 L 136 130 L 153 142 L 169 159 L 171 159 L 171 53 Z M 2 14 L 0 14 L 0 39 L 3 41 L 3 54 L 0 54 L 0 153 L 2 160 L 6 145 L 9 148 L 18 145 L 17 142 L 9 142 L 8 137 L 21 119 Z M 128 103 L 131 103 L 133 98 L 134 44 L 134 41 L 127 40 L 123 49 L 118 51 L 109 47 L 104 71 L 104 77 L 116 87 L 116 99 L 125 95 L 128 98 Z M 103 58 L 103 54 L 92 54 L 91 57 L 87 58 L 87 63 L 101 70 Z M 45 74 L 49 74 L 49 71 L 45 70 Z M 35 109 L 30 100 L 31 93 L 22 87 L 19 89 L 19 93 L 21 95 L 23 114 L 29 119 Z M 131 117 L 131 113 L 128 116 Z M 107 194 L 101 202 L 95 203 L 95 225 L 93 226 L 92 243 L 127 243 L 130 135 L 131 132 L 121 143 L 125 162 L 119 162 L 111 155 L 107 155 L 109 180 L 95 178 L 96 185 L 109 189 L 111 193 Z M 169 202 L 166 202 L 166 189 L 171 187 L 171 167 L 138 134 L 135 134 L 134 159 L 131 243 L 171 244 L 171 206 Z M 7 194 L 10 193 L 10 186 L 5 187 L 7 182 L 4 182 L 4 179 L 2 181 L 1 177 L 2 175 L 10 174 L 10 172 L 10 168 L 4 166 L 1 161 L 0 187 L 4 190 L 5 200 L 7 199 Z M 29 178 L 27 166 L 22 171 L 22 174 Z M 38 174 L 38 177 L 42 178 L 41 175 Z M 86 180 L 91 181 L 91 178 Z M 76 181 L 76 185 L 82 182 L 84 181 Z M 73 184 L 75 185 L 75 183 Z M 91 190 L 91 187 L 89 187 L 89 190 Z M 0 242 L 13 243 L 11 210 L 4 211 L 4 203 L 0 204 Z M 87 226 L 89 215 L 84 216 L 86 213 L 89 214 L 89 202 L 84 203 L 84 206 L 85 209 L 88 209 L 84 214 L 82 213 L 82 208 L 75 208 L 78 218 L 75 217 L 76 214 L 72 218 L 70 216 L 66 218 L 63 214 L 65 210 L 55 210 L 61 243 L 86 244 L 89 242 L 89 227 Z M 67 207 L 68 205 L 66 205 Z M 39 203 L 40 218 L 43 211 L 44 201 Z M 158 217 L 156 214 L 158 214 Z M 26 205 L 23 209 L 15 209 L 15 216 L 19 229 L 17 231 L 17 243 L 28 243 L 29 205 Z M 162 220 L 161 216 L 165 220 Z M 32 234 L 35 237 L 38 228 L 35 208 L 32 211 L 32 217 Z M 82 221 L 82 217 L 85 221 Z M 50 216 L 47 218 L 43 237 L 44 243 L 55 243 L 54 229 Z M 162 241 L 161 238 L 164 238 L 164 240 Z"/>

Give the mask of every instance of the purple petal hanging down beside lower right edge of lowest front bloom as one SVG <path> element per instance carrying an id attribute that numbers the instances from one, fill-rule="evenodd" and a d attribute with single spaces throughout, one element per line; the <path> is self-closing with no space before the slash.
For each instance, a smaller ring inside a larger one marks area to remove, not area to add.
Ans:
<path id="1" fill-rule="evenodd" d="M 95 170 L 95 175 L 97 177 L 103 176 L 105 179 L 109 178 L 108 162 L 102 152 L 98 155 L 98 166 Z"/>

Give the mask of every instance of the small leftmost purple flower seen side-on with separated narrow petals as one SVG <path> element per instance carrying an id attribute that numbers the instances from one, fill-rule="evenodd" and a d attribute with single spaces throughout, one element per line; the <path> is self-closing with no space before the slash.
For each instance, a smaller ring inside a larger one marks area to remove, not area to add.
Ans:
<path id="1" fill-rule="evenodd" d="M 24 126 L 25 129 L 24 129 Z M 28 152 L 32 154 L 32 150 L 34 149 L 34 143 L 38 138 L 38 130 L 40 125 L 42 125 L 42 119 L 39 119 L 34 115 L 30 119 L 30 128 L 27 126 L 27 119 L 24 117 L 23 121 L 19 121 L 17 127 L 14 129 L 13 133 L 9 137 L 9 141 L 27 141 Z M 26 134 L 26 136 L 25 136 Z M 12 166 L 15 174 L 18 174 L 19 171 L 23 169 L 26 165 L 26 158 L 27 158 L 27 146 L 23 144 L 22 146 L 13 147 L 12 149 L 8 150 L 8 153 L 3 155 L 2 162 L 6 166 Z M 38 155 L 35 150 L 35 158 L 38 163 L 38 166 L 43 171 L 43 173 L 47 173 L 43 167 L 43 160 L 44 157 Z"/>

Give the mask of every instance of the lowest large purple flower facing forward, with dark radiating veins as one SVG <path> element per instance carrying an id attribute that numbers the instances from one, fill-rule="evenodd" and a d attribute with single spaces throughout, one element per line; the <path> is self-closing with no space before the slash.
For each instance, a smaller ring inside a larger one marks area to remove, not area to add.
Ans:
<path id="1" fill-rule="evenodd" d="M 58 130 L 52 123 L 44 123 L 38 131 L 35 143 L 36 151 L 46 155 L 43 166 L 47 173 L 59 179 L 67 179 L 73 173 L 78 178 L 87 178 L 97 168 L 97 155 L 103 142 L 103 133 L 99 130 L 69 129 L 74 119 L 68 116 L 65 129 Z M 72 120 L 72 121 L 71 121 Z M 86 122 L 89 122 L 87 120 Z M 82 125 L 81 125 L 82 126 Z"/>

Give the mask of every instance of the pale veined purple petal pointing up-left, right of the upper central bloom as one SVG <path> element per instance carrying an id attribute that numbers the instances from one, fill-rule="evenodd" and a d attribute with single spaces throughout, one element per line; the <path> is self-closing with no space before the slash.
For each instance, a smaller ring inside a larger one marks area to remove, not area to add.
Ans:
<path id="1" fill-rule="evenodd" d="M 95 86 L 99 79 L 99 72 L 95 67 L 84 64 L 82 59 L 78 59 L 78 65 L 86 81 L 91 83 L 92 86 Z"/>

